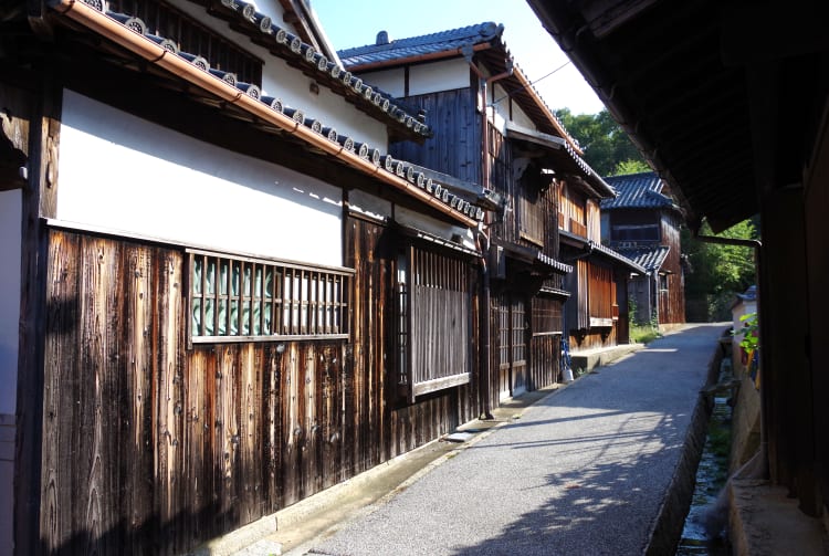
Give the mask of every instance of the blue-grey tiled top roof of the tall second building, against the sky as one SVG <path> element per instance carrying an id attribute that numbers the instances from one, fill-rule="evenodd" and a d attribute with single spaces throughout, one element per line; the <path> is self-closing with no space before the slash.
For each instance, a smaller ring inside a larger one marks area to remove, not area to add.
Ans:
<path id="1" fill-rule="evenodd" d="M 392 40 L 381 44 L 355 46 L 340 50 L 337 54 L 346 67 L 363 66 L 482 44 L 496 38 L 500 39 L 503 32 L 504 25 L 486 22 L 421 36 Z"/>

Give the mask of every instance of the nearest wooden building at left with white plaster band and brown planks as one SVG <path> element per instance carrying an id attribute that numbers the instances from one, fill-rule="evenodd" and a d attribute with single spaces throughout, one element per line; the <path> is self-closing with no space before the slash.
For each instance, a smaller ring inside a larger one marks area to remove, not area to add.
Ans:
<path id="1" fill-rule="evenodd" d="M 484 209 L 314 21 L 0 6 L 0 553 L 186 553 L 483 411 Z"/>

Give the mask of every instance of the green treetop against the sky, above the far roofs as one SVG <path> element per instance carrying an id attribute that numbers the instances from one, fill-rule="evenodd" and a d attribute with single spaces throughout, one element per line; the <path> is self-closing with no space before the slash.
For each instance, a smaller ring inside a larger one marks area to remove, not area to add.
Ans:
<path id="1" fill-rule="evenodd" d="M 562 108 L 556 111 L 556 117 L 581 146 L 585 160 L 599 176 L 636 174 L 650 169 L 607 109 L 598 114 L 574 115 L 569 108 Z"/>

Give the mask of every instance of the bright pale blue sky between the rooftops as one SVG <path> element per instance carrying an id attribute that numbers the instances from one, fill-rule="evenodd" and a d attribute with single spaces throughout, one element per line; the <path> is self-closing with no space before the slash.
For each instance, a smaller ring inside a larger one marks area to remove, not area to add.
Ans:
<path id="1" fill-rule="evenodd" d="M 535 83 L 547 106 L 552 109 L 567 107 L 574 114 L 596 114 L 604 107 L 524 0 L 309 2 L 337 50 L 374 44 L 378 31 L 388 31 L 389 39 L 393 40 L 484 21 L 503 23 L 506 46 L 524 74 Z"/>

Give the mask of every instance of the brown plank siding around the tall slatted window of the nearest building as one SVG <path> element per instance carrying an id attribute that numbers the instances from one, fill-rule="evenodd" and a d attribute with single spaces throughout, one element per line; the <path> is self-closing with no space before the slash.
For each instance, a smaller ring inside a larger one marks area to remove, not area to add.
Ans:
<path id="1" fill-rule="evenodd" d="M 400 235 L 375 222 L 359 218 L 346 221 L 347 266 L 357 271 L 353 304 L 353 353 L 355 384 L 363 417 L 359 443 L 355 453 L 361 453 L 356 470 L 364 471 L 390 458 L 412 450 L 457 426 L 478 417 L 478 326 L 471 331 L 471 361 L 473 370 L 469 385 L 458 386 L 418 397 L 408 403 L 398 396 L 396 385 L 393 325 L 389 308 L 393 292 L 396 254 L 405 244 Z M 473 281 L 472 292 L 478 291 Z M 478 323 L 478 296 L 473 294 L 472 322 Z M 384 316 L 385 315 L 385 316 Z M 347 397 L 346 397 L 347 399 Z M 357 408 L 355 408 L 357 410 Z M 346 408 L 346 415 L 349 415 Z M 348 457 L 347 454 L 345 457 Z"/>

